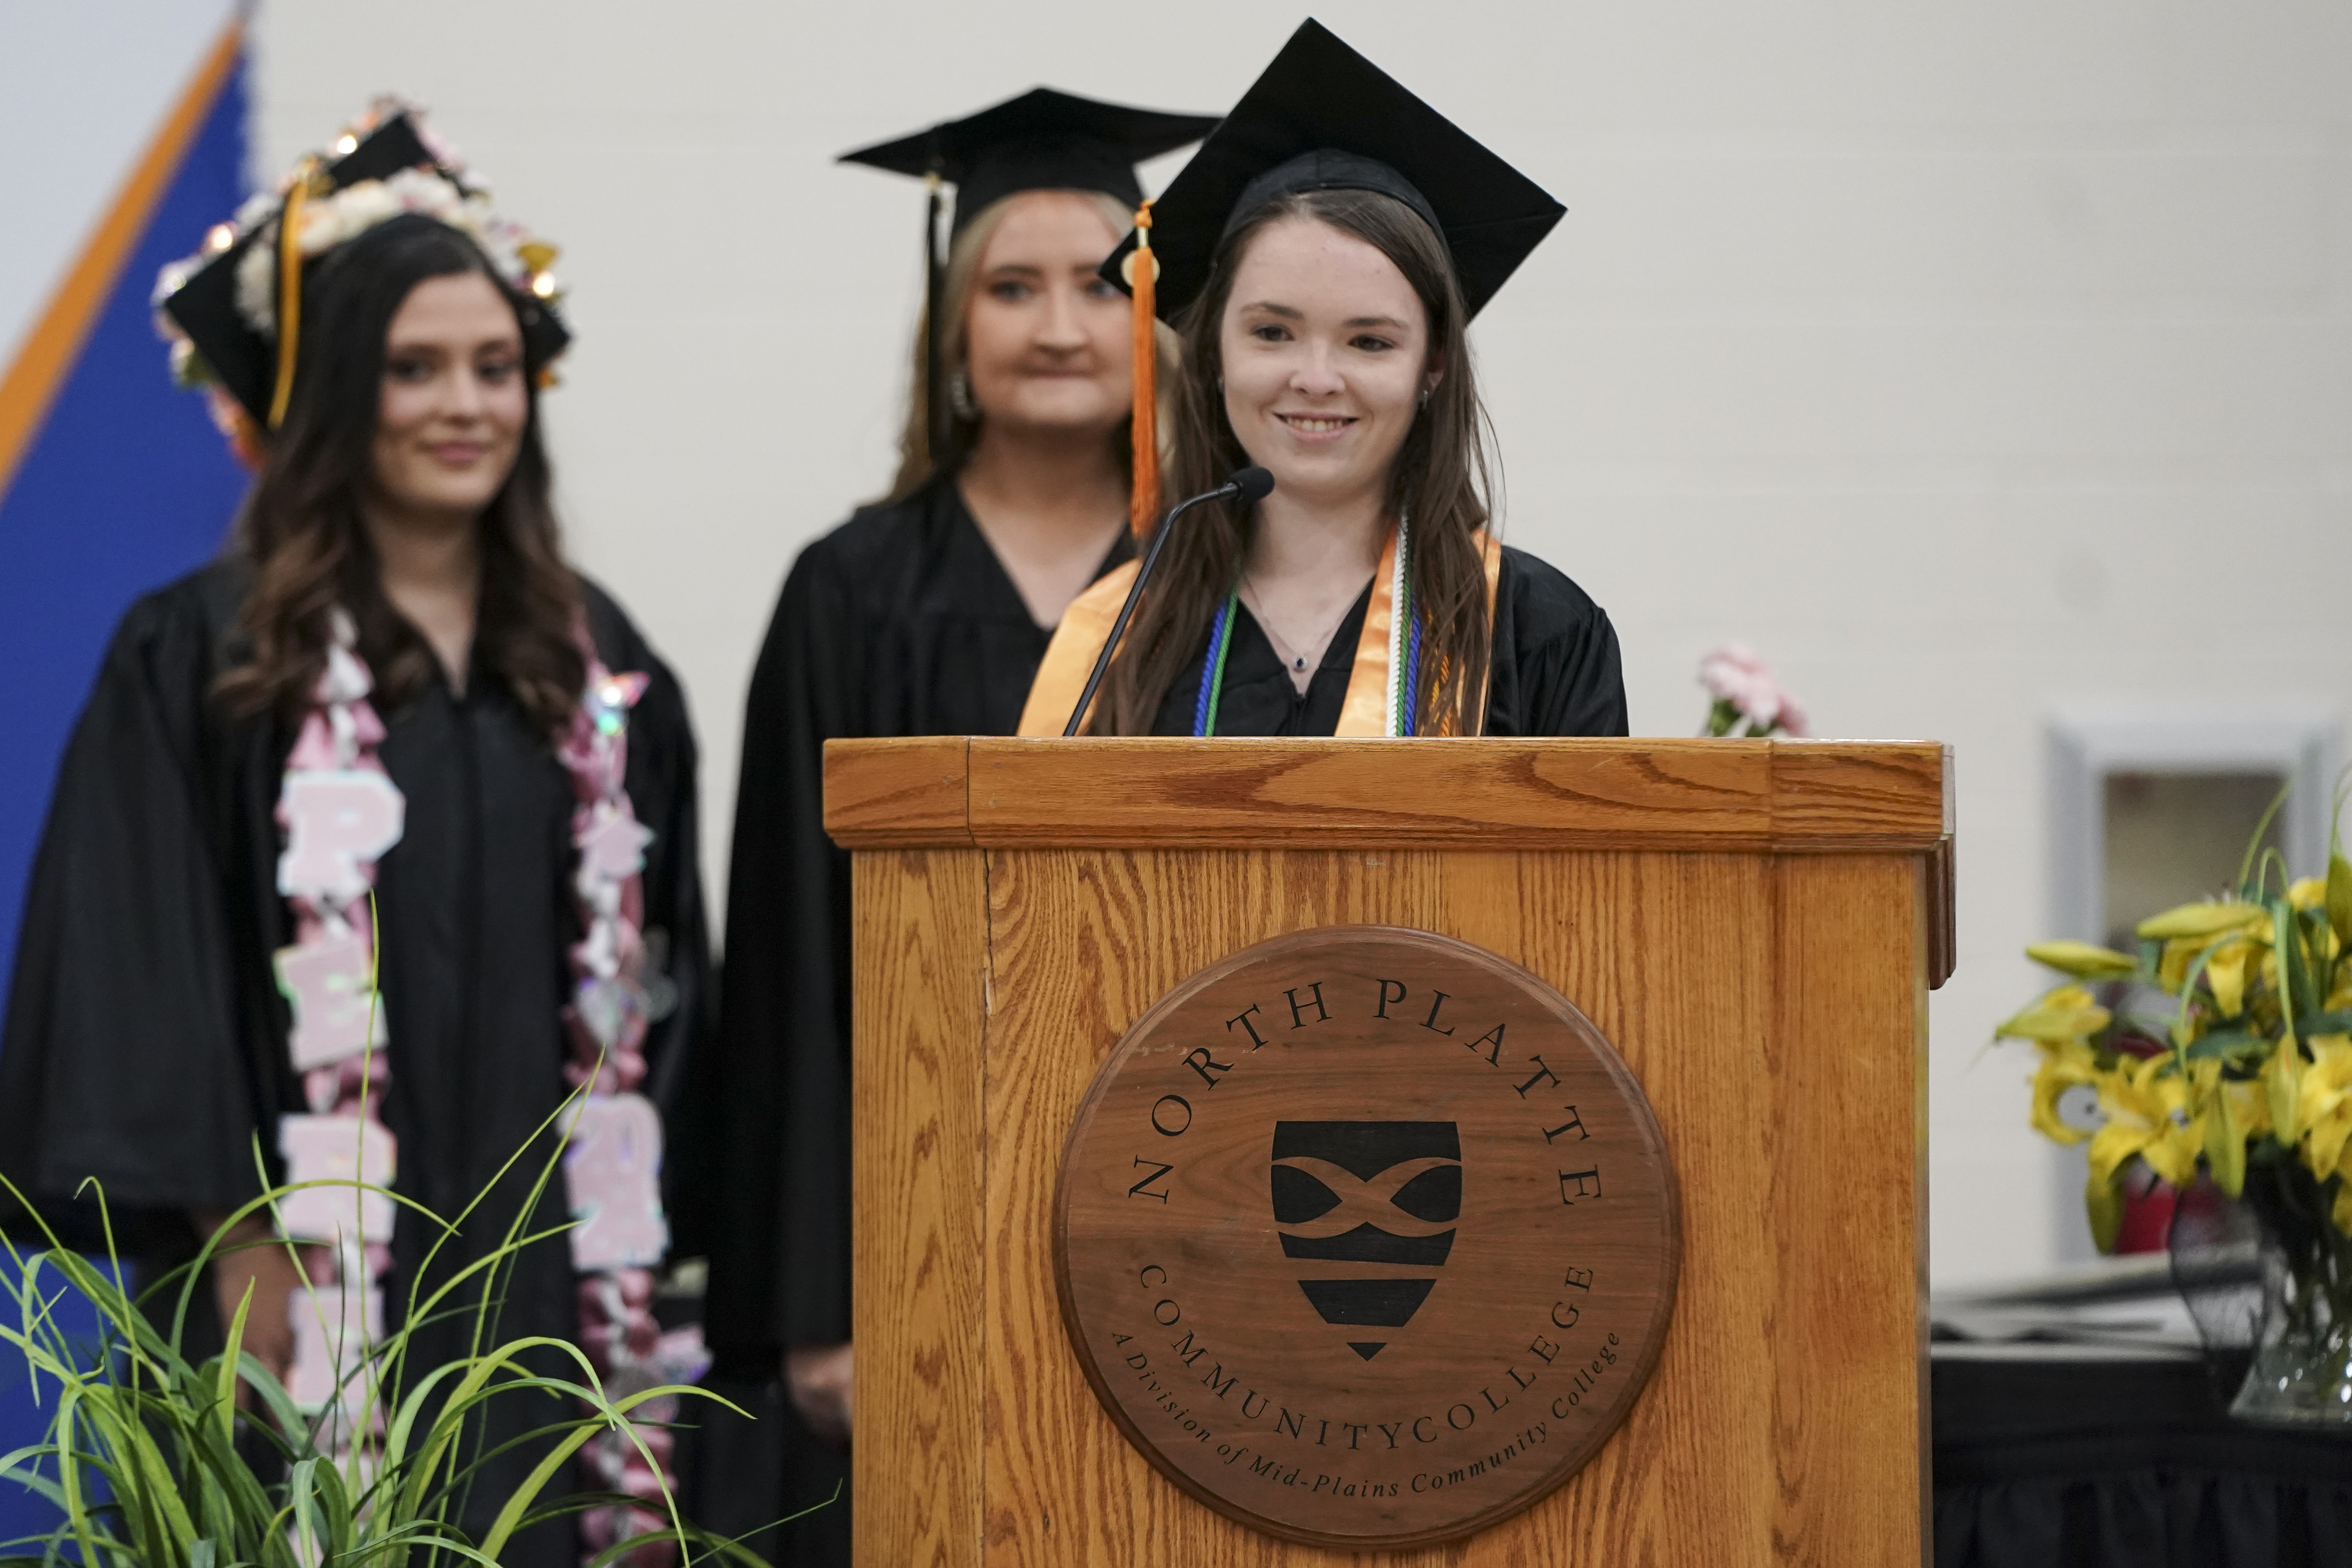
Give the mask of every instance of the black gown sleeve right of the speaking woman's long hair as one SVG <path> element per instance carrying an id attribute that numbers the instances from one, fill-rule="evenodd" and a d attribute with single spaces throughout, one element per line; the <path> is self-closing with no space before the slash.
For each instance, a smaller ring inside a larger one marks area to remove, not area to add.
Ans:
<path id="1" fill-rule="evenodd" d="M 1623 736 L 1625 672 L 1609 611 L 1562 571 L 1503 552 L 1489 736 Z"/>

